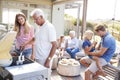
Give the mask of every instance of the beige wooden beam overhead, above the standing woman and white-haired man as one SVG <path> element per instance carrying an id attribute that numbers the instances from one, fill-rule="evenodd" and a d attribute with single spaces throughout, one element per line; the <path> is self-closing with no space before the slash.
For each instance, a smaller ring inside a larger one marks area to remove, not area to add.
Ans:
<path id="1" fill-rule="evenodd" d="M 34 2 L 34 3 L 30 3 L 30 2 L 26 2 L 27 0 L 25 0 L 25 2 L 23 0 L 2 0 L 2 7 L 4 8 L 14 8 L 14 9 L 24 9 L 24 10 L 29 10 L 29 9 L 34 9 L 36 7 L 44 7 L 44 8 L 49 8 L 51 9 L 51 4 L 48 5 L 44 2 L 40 3 L 40 2 Z M 23 5 L 23 6 L 22 6 Z"/>

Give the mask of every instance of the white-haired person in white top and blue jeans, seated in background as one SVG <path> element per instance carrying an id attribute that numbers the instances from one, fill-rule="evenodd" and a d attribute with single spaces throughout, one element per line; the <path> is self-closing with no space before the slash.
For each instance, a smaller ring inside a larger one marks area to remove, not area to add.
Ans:
<path id="1" fill-rule="evenodd" d="M 76 53 L 79 52 L 79 40 L 75 36 L 75 31 L 70 31 L 69 36 L 70 38 L 66 40 L 65 50 L 71 58 L 76 58 Z"/>

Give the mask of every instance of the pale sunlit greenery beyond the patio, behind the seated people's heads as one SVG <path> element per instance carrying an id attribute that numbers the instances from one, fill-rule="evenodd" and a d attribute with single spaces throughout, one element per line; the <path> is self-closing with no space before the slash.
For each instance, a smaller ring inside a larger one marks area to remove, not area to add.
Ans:
<path id="1" fill-rule="evenodd" d="M 80 29 L 82 26 L 82 20 L 79 20 L 79 26 Z M 96 24 L 105 24 L 106 26 L 108 26 L 108 30 L 110 33 L 112 33 L 112 35 L 117 39 L 119 39 L 120 36 L 120 21 L 113 21 L 113 20 L 95 20 L 95 21 L 87 21 L 86 22 L 86 30 L 90 29 L 92 31 L 94 31 L 94 26 Z M 68 14 L 65 14 L 65 35 L 68 35 L 70 30 L 75 30 L 77 26 L 77 19 L 74 18 L 73 16 L 70 16 Z"/>

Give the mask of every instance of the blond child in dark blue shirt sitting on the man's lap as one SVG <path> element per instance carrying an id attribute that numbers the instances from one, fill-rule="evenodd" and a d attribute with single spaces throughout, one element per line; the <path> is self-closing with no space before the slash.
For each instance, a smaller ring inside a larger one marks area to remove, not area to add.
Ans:
<path id="1" fill-rule="evenodd" d="M 93 35 L 94 34 L 91 30 L 87 30 L 84 34 L 84 41 L 83 41 L 82 48 L 84 49 L 85 52 L 86 51 L 90 51 L 90 52 L 95 51 L 95 46 L 96 46 L 97 42 L 93 42 L 93 43 L 90 42 Z M 101 73 L 101 75 L 105 76 L 105 73 L 102 70 L 102 67 L 100 65 L 99 58 L 97 56 L 90 56 L 90 55 L 88 55 L 88 57 L 96 61 L 96 65 L 99 69 L 99 72 Z"/>

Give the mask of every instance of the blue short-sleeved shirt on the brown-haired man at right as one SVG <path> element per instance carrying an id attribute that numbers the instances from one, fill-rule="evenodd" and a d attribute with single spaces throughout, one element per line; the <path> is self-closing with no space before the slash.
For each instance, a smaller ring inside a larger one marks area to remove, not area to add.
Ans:
<path id="1" fill-rule="evenodd" d="M 111 34 L 106 33 L 106 35 L 102 37 L 101 45 L 103 48 L 107 48 L 107 51 L 101 57 L 104 58 L 107 62 L 110 62 L 110 59 L 114 55 L 116 49 L 116 42 L 114 37 Z"/>

